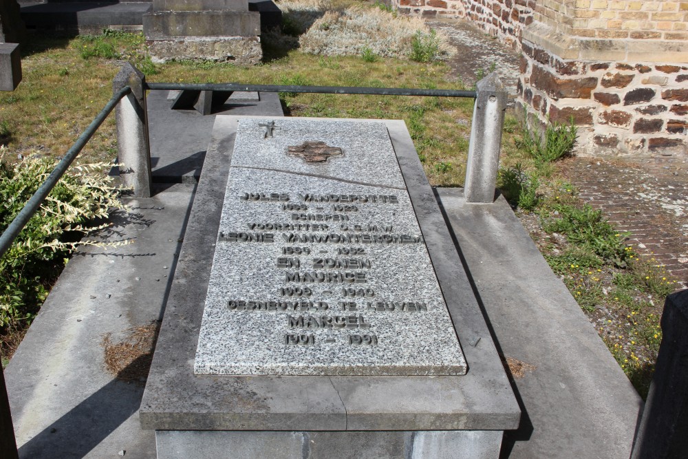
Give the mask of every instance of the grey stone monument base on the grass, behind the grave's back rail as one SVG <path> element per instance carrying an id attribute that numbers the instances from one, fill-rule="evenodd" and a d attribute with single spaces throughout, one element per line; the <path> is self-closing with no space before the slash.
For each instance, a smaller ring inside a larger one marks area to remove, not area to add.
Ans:
<path id="1" fill-rule="evenodd" d="M 153 0 L 143 16 L 153 61 L 199 59 L 252 65 L 261 61 L 260 13 L 248 0 Z"/>

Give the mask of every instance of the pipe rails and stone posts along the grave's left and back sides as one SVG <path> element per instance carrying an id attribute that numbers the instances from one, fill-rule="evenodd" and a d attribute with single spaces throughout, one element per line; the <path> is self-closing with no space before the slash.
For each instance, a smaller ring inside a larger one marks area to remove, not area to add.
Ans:
<path id="1" fill-rule="evenodd" d="M 477 91 L 389 87 L 244 85 L 241 83 L 147 83 L 144 75 L 127 63 L 114 79 L 114 95 L 83 131 L 83 134 L 78 137 L 74 145 L 67 150 L 63 159 L 58 162 L 45 182 L 39 186 L 39 189 L 0 236 L 0 257 L 10 249 L 14 239 L 39 209 L 43 200 L 115 108 L 117 108 L 118 162 L 127 165 L 127 170 L 120 170 L 122 181 L 125 185 L 131 186 L 133 195 L 150 195 L 151 166 L 146 113 L 146 91 L 149 89 L 474 98 L 476 103 L 473 111 L 471 141 L 469 142 L 469 164 L 466 167 L 466 200 L 469 202 L 493 201 L 496 168 L 499 160 L 499 140 L 502 136 L 504 120 L 503 111 L 506 107 L 506 92 L 502 89 L 496 74 L 491 74 L 478 82 Z M 473 193 L 473 189 L 475 189 L 475 193 Z M 0 457 L 18 457 L 7 389 L 2 372 L 0 372 Z"/>

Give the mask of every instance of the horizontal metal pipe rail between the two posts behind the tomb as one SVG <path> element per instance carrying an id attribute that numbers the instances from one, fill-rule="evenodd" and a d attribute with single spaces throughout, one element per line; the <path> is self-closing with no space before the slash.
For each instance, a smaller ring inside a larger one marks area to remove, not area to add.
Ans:
<path id="1" fill-rule="evenodd" d="M 434 96 L 476 98 L 475 91 L 402 87 L 243 85 L 240 83 L 144 83 L 146 89 L 190 91 L 297 92 L 310 94 L 372 94 L 375 96 Z"/>

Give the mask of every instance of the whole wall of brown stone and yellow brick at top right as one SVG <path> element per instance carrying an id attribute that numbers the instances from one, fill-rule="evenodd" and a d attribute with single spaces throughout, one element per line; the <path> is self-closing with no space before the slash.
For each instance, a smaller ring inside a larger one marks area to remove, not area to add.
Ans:
<path id="1" fill-rule="evenodd" d="M 394 1 L 520 50 L 519 105 L 541 122 L 573 117 L 584 152 L 688 152 L 688 1 Z"/>

